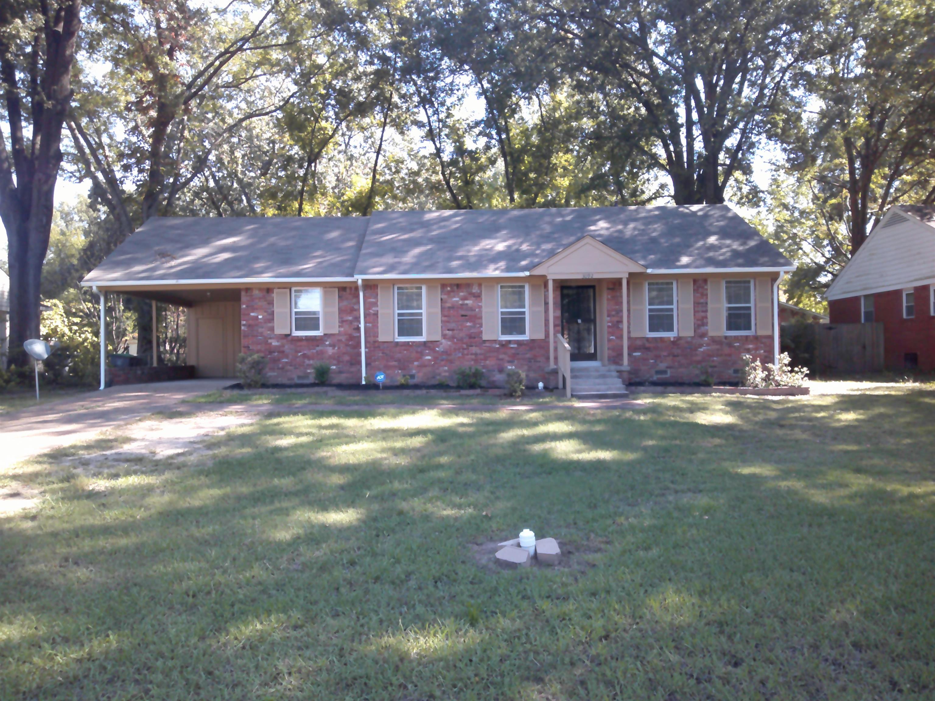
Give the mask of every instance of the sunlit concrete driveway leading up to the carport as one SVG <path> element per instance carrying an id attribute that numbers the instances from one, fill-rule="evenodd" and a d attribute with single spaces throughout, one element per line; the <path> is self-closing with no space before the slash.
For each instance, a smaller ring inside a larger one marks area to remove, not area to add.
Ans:
<path id="1" fill-rule="evenodd" d="M 186 379 L 122 385 L 0 416 L 0 472 L 34 455 L 89 440 L 141 416 L 177 408 L 185 399 L 236 381 Z"/>

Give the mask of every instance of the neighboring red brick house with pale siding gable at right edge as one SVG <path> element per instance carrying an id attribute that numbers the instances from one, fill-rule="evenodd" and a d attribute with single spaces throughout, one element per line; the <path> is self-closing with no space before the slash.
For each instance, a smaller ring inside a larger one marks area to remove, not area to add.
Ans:
<path id="1" fill-rule="evenodd" d="M 935 371 L 935 207 L 892 207 L 827 290 L 834 323 L 883 323 L 885 365 Z"/>

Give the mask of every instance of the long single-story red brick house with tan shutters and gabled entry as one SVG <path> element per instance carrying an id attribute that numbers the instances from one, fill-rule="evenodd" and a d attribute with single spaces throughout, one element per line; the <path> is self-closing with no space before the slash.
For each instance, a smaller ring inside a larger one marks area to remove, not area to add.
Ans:
<path id="1" fill-rule="evenodd" d="M 202 377 L 255 352 L 274 383 L 325 361 L 341 383 L 477 365 L 492 384 L 518 368 L 556 386 L 570 361 L 584 393 L 773 362 L 793 268 L 724 205 L 388 211 L 154 218 L 81 284 L 188 307 Z"/>

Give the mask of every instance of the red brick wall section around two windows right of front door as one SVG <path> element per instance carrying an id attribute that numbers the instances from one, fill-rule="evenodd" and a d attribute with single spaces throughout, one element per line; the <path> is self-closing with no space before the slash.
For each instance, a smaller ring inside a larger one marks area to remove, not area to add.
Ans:
<path id="1" fill-rule="evenodd" d="M 698 382 L 705 374 L 719 382 L 736 382 L 733 371 L 741 355 L 750 353 L 761 363 L 772 363 L 770 336 L 708 336 L 708 280 L 695 279 L 695 336 L 630 338 L 629 381 Z M 669 377 L 656 378 L 656 370 Z"/>

